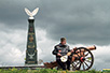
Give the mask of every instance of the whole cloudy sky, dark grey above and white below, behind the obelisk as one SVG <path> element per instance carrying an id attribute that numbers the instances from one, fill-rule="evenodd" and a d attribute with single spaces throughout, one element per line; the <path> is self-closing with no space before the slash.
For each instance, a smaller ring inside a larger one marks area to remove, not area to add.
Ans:
<path id="1" fill-rule="evenodd" d="M 40 9 L 35 17 L 39 59 L 55 60 L 53 47 L 65 36 L 70 48 L 97 46 L 93 69 L 110 68 L 110 0 L 0 0 L 0 65 L 25 64 L 25 8 Z"/>

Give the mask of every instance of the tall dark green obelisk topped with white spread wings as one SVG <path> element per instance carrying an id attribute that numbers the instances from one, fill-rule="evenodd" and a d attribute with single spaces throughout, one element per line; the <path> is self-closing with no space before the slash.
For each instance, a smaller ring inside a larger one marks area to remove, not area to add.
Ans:
<path id="1" fill-rule="evenodd" d="M 36 42 L 36 30 L 35 30 L 35 18 L 33 16 L 38 13 L 39 8 L 33 12 L 25 9 L 26 13 L 30 16 L 28 19 L 28 36 L 27 36 L 27 49 L 26 49 L 26 61 L 25 64 L 38 64 L 38 50 Z"/>

